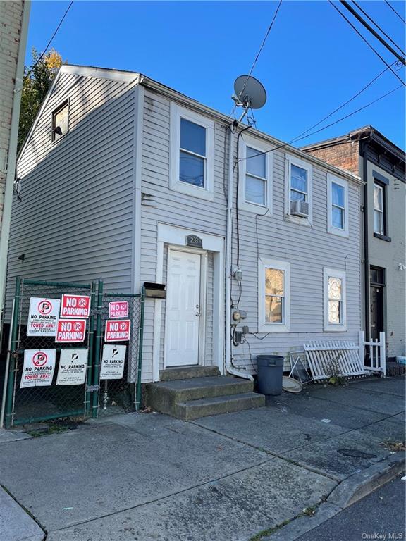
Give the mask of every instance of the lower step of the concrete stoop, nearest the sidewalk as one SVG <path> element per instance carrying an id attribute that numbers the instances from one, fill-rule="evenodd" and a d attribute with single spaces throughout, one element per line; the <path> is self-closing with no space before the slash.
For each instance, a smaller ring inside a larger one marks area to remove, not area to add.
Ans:
<path id="1" fill-rule="evenodd" d="M 176 417 L 184 421 L 191 421 L 199 417 L 232 413 L 242 409 L 261 408 L 262 406 L 265 406 L 264 394 L 246 392 L 226 397 L 211 397 L 179 402 L 176 404 Z"/>

